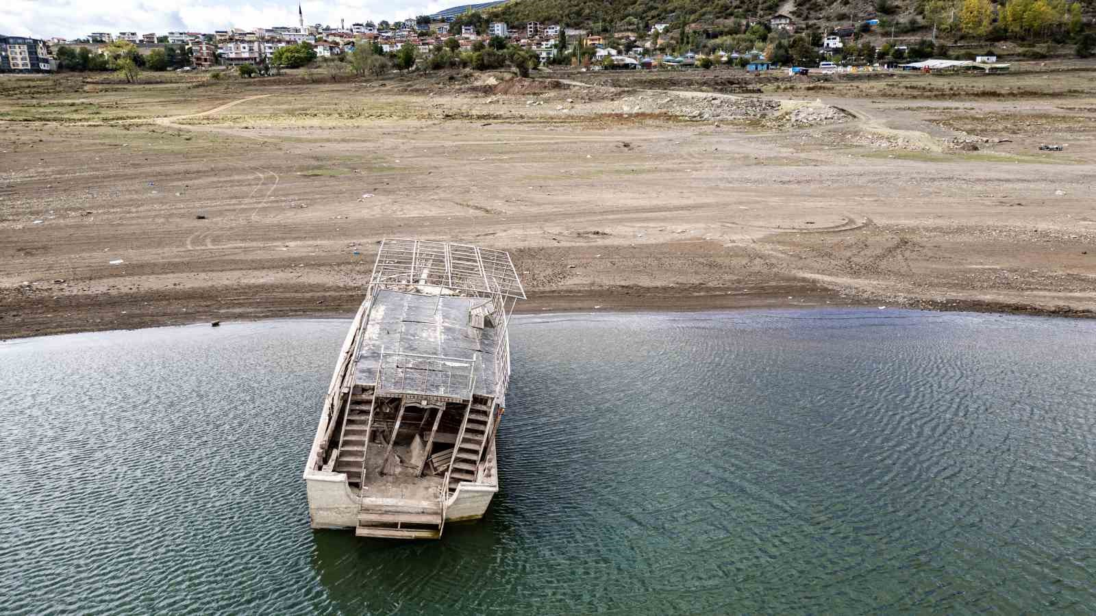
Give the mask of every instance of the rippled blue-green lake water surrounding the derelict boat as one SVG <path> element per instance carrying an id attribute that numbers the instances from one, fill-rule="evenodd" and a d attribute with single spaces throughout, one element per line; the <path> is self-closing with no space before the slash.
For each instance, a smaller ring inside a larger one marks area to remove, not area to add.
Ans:
<path id="1" fill-rule="evenodd" d="M 522 317 L 502 489 L 431 543 L 308 526 L 346 327 L 0 343 L 0 612 L 1096 609 L 1096 322 Z"/>

